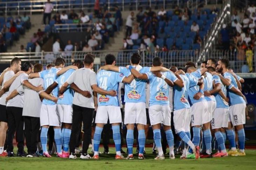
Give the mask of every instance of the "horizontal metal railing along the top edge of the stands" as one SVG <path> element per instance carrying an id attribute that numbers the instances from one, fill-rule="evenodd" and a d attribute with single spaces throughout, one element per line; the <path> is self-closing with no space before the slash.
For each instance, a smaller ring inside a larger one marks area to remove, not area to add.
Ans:
<path id="1" fill-rule="evenodd" d="M 139 7 L 164 7 L 172 8 L 174 5 L 187 6 L 189 8 L 197 8 L 201 4 L 207 4 L 211 0 L 100 0 L 101 7 L 107 7 L 109 10 L 113 10 L 115 6 L 121 8 L 121 10 L 137 10 Z M 0 2 L 0 12 L 7 16 L 9 13 L 36 13 L 43 12 L 47 0 L 31 0 L 31 1 L 11 1 L 2 0 Z M 52 1 L 54 11 L 61 10 L 84 10 L 92 11 L 94 7 L 94 0 L 55 0 Z M 216 4 L 219 1 L 216 0 Z"/>

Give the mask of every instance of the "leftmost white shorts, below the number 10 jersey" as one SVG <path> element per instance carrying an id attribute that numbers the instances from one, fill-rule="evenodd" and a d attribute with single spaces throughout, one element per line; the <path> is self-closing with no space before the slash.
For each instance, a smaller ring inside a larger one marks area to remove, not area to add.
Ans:
<path id="1" fill-rule="evenodd" d="M 61 126 L 60 116 L 56 111 L 57 105 L 42 104 L 40 111 L 40 126 Z"/>

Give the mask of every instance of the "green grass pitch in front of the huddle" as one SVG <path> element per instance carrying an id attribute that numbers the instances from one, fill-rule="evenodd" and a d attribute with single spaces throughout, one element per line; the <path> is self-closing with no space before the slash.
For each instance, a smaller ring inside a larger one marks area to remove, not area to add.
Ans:
<path id="1" fill-rule="evenodd" d="M 103 151 L 103 148 L 100 148 Z M 138 170 L 162 170 L 162 169 L 204 169 L 204 170 L 236 170 L 255 169 L 256 150 L 246 150 L 244 157 L 223 157 L 223 158 L 201 158 L 199 160 L 180 160 L 176 155 L 175 160 L 153 160 L 155 155 L 151 154 L 151 148 L 146 149 L 146 160 L 115 160 L 114 148 L 110 148 L 109 155 L 100 155 L 99 160 L 69 160 L 63 158 L 22 158 L 22 157 L 0 157 L 0 169 L 138 169 Z M 124 155 L 126 156 L 126 155 Z"/>

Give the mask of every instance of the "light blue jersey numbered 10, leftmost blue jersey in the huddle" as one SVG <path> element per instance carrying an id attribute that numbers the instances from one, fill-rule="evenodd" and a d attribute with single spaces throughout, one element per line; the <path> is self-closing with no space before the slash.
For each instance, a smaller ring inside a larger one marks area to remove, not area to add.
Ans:
<path id="1" fill-rule="evenodd" d="M 40 78 L 43 79 L 43 88 L 45 90 L 47 89 L 47 87 L 49 87 L 51 84 L 53 84 L 53 82 L 55 82 L 55 80 L 57 78 L 56 73 L 57 73 L 58 70 L 59 69 L 56 69 L 55 67 L 52 67 L 50 70 L 43 70 L 43 71 L 39 72 Z M 58 97 L 58 87 L 53 89 L 52 95 L 54 97 Z M 42 104 L 55 105 L 56 103 L 51 101 L 51 100 L 43 99 Z"/>

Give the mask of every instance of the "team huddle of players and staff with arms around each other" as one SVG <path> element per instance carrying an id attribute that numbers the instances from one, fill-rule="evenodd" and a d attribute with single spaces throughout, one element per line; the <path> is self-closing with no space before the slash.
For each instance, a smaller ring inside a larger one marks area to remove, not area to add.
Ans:
<path id="1" fill-rule="evenodd" d="M 47 151 L 47 133 L 48 128 L 53 126 L 56 155 L 75 159 L 77 134 L 82 123 L 84 134 L 80 158 L 99 159 L 101 133 L 109 121 L 116 149 L 115 159 L 134 159 L 135 125 L 138 130 L 138 158 L 145 159 L 145 128 L 148 124 L 153 128 L 158 151 L 155 160 L 165 159 L 161 128 L 166 134 L 169 158 L 175 159 L 171 130 L 172 102 L 175 133 L 185 143 L 181 159 L 245 156 L 243 124 L 246 104 L 240 83 L 244 80 L 229 70 L 227 59 L 218 62 L 209 59 L 205 68 L 200 69 L 188 62 L 184 70 L 176 66 L 164 68 L 159 57 L 153 58 L 151 67 L 142 67 L 140 62 L 141 56 L 134 53 L 131 65 L 118 67 L 115 66 L 115 56 L 108 54 L 105 66 L 96 74 L 92 70 L 92 54 L 86 54 L 83 62 L 75 61 L 67 67 L 64 67 L 64 59 L 56 58 L 55 66 L 47 70 L 43 70 L 41 64 L 24 62 L 21 65 L 19 58 L 13 58 L 11 67 L 0 76 L 0 156 L 14 156 L 13 138 L 16 132 L 16 156 L 38 156 L 36 151 L 40 136 L 43 156 L 51 157 Z M 127 157 L 121 153 L 120 83 L 124 83 Z M 91 140 L 93 120 L 96 127 Z M 234 130 L 238 134 L 239 151 L 236 149 Z M 28 154 L 24 151 L 24 132 Z M 215 154 L 212 154 L 212 134 L 217 141 L 218 151 Z M 226 151 L 224 144 L 226 136 L 230 143 L 229 151 Z M 91 141 L 94 148 L 92 157 L 87 153 Z M 204 149 L 200 149 L 200 142 Z"/>

